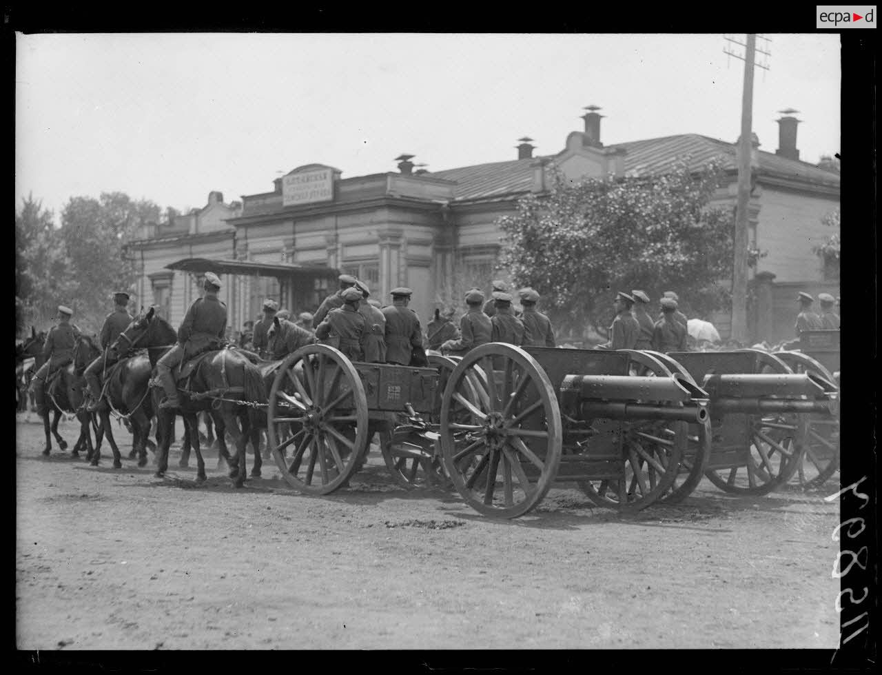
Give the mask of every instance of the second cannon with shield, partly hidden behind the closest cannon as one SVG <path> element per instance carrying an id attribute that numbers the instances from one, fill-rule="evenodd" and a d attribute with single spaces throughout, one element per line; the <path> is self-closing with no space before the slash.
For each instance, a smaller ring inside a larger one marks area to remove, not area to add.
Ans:
<path id="1" fill-rule="evenodd" d="M 744 349 L 654 355 L 669 370 L 701 383 L 709 396 L 707 425 L 692 425 L 682 467 L 689 478 L 665 495 L 676 502 L 704 473 L 723 491 L 763 495 L 802 466 L 812 417 L 838 414 L 836 387 L 814 372 L 795 373 L 778 356 Z M 709 452 L 708 452 L 709 448 Z"/>

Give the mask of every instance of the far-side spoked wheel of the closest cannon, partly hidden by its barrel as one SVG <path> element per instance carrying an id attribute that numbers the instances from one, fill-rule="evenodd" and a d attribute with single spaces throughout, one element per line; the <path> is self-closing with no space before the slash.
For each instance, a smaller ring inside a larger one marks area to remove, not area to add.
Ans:
<path id="1" fill-rule="evenodd" d="M 631 357 L 636 371 L 644 377 L 670 377 L 671 371 L 662 362 L 644 351 L 623 350 Z M 666 401 L 643 401 L 665 404 Z M 667 402 L 668 405 L 675 405 Z M 598 478 L 579 481 L 588 499 L 598 506 L 610 506 L 623 512 L 646 508 L 675 489 L 677 477 L 687 476 L 676 489 L 683 492 L 694 485 L 683 486 L 691 479 L 695 459 L 688 453 L 689 424 L 671 420 L 623 420 L 621 422 L 624 478 Z M 695 448 L 699 463 L 704 461 L 704 446 Z"/>

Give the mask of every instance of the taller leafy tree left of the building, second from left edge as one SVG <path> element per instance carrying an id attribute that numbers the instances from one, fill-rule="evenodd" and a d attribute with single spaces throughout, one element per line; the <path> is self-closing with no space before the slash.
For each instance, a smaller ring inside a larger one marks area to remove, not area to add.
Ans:
<path id="1" fill-rule="evenodd" d="M 159 221 L 160 206 L 123 192 L 102 192 L 99 199 L 72 197 L 62 212 L 61 238 L 70 261 L 71 303 L 78 325 L 100 329 L 117 289 L 131 289 L 134 262 L 123 244 L 138 236 L 146 221 Z"/>

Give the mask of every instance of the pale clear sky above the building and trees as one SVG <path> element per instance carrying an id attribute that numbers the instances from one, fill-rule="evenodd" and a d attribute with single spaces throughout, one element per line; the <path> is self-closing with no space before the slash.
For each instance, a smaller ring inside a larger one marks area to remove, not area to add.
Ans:
<path id="1" fill-rule="evenodd" d="M 744 41 L 744 35 L 731 35 Z M 768 34 L 753 131 L 800 158 L 839 152 L 840 41 Z M 273 190 L 303 164 L 342 177 L 556 154 L 597 105 L 606 145 L 680 133 L 734 142 L 743 48 L 722 34 L 17 34 L 16 208 L 123 191 L 179 210 Z"/>

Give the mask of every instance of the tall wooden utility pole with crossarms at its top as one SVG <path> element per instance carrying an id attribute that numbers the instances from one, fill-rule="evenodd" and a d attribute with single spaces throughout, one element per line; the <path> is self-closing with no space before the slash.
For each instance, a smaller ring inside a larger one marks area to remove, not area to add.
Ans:
<path id="1" fill-rule="evenodd" d="M 757 52 L 757 36 L 747 35 L 747 42 L 726 38 L 744 47 L 744 90 L 741 97 L 741 138 L 738 140 L 738 202 L 735 215 L 735 244 L 732 266 L 732 331 L 731 338 L 746 342 L 747 335 L 747 246 L 748 206 L 751 201 L 751 137 L 753 128 L 753 66 Z M 729 56 L 741 58 L 723 49 Z M 767 51 L 759 50 L 763 54 Z M 768 70 L 764 64 L 760 68 Z"/>

